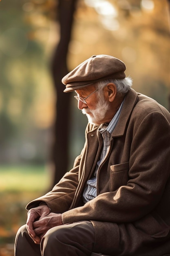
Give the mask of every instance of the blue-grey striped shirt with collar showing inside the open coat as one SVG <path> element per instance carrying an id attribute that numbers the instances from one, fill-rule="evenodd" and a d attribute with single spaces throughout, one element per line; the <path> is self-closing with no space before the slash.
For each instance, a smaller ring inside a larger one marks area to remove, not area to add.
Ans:
<path id="1" fill-rule="evenodd" d="M 87 181 L 86 187 L 84 189 L 84 192 L 83 192 L 83 202 L 84 203 L 92 200 L 93 198 L 95 198 L 97 196 L 97 171 L 99 169 L 100 164 L 103 162 L 103 160 L 106 156 L 108 147 L 110 145 L 111 133 L 113 132 L 113 130 L 117 124 L 117 121 L 119 120 L 119 116 L 121 113 L 123 103 L 124 103 L 124 101 L 122 101 L 121 106 L 119 107 L 115 116 L 113 117 L 113 119 L 110 121 L 109 124 L 101 124 L 99 126 L 98 130 L 102 134 L 104 145 L 103 145 L 103 150 L 102 150 L 100 160 L 97 162 L 95 171 L 93 173 L 93 177 L 91 177 L 91 179 Z"/>

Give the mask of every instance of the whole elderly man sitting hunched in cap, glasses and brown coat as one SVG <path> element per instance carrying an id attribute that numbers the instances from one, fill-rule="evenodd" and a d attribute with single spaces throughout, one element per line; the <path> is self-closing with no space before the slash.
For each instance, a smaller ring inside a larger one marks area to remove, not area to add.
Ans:
<path id="1" fill-rule="evenodd" d="M 16 256 L 170 255 L 170 113 L 125 70 L 94 55 L 62 79 L 88 117 L 86 141 L 73 169 L 27 205 Z"/>

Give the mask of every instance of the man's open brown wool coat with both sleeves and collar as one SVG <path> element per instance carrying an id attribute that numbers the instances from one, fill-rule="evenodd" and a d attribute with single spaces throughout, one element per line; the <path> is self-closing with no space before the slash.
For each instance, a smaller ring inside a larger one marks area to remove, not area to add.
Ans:
<path id="1" fill-rule="evenodd" d="M 91 220 L 99 252 L 170 254 L 170 113 L 149 97 L 128 92 L 99 168 L 97 197 L 83 205 L 84 186 L 102 149 L 97 128 L 88 124 L 74 168 L 26 208 L 44 201 L 52 212 L 63 213 L 64 223 Z"/>

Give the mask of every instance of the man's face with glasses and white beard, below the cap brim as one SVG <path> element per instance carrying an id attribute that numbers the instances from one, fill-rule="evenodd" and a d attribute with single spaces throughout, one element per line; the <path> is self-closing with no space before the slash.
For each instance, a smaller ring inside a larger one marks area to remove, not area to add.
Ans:
<path id="1" fill-rule="evenodd" d="M 94 86 L 88 86 L 88 88 L 76 90 L 76 92 L 79 97 L 86 98 L 95 90 Z M 109 102 L 105 100 L 103 93 L 96 91 L 86 99 L 86 103 L 79 100 L 78 108 L 87 116 L 89 123 L 100 125 L 106 121 L 105 116 L 109 109 Z"/>

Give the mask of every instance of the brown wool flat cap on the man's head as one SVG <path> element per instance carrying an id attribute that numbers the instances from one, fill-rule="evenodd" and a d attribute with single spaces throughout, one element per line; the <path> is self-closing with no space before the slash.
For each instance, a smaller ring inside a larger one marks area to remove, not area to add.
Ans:
<path id="1" fill-rule="evenodd" d="M 62 78 L 62 83 L 66 85 L 64 92 L 78 90 L 104 79 L 125 78 L 125 70 L 125 64 L 113 56 L 93 55 Z"/>

